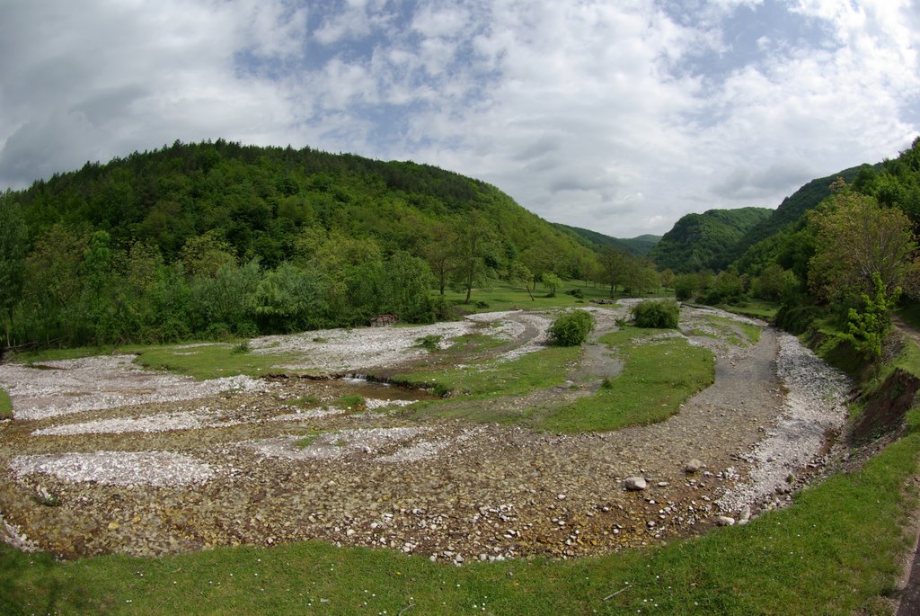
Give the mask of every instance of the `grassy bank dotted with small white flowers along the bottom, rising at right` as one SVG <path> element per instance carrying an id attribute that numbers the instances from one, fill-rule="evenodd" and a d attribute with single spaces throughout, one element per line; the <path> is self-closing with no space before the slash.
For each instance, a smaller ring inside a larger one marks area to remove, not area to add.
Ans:
<path id="1" fill-rule="evenodd" d="M 0 612 L 890 613 L 884 598 L 909 547 L 904 512 L 916 505 L 903 484 L 916 471 L 918 423 L 914 412 L 908 436 L 786 510 L 664 547 L 457 568 L 318 542 L 72 563 L 0 544 Z"/>

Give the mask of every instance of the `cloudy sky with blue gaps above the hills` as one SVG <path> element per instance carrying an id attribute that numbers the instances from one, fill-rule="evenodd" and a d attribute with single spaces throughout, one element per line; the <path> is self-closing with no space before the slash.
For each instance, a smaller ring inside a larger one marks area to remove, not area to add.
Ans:
<path id="1" fill-rule="evenodd" d="M 0 188 L 224 137 L 662 233 L 896 157 L 918 52 L 920 0 L 0 0 Z"/>

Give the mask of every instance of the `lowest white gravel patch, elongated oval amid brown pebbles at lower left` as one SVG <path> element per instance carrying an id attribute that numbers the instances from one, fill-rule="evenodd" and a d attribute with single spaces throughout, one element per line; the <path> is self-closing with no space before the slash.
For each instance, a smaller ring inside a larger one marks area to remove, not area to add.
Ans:
<path id="1" fill-rule="evenodd" d="M 169 451 L 93 451 L 17 456 L 9 468 L 17 477 L 45 473 L 68 482 L 102 485 L 179 485 L 203 483 L 215 471 L 209 464 Z"/>

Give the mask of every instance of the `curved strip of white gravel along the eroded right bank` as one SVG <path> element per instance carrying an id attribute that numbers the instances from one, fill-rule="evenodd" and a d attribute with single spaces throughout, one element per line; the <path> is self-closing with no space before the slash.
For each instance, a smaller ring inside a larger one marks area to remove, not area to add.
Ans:
<path id="1" fill-rule="evenodd" d="M 744 456 L 752 464 L 750 474 L 719 498 L 723 511 L 742 511 L 788 488 L 789 475 L 805 468 L 828 433 L 845 423 L 847 378 L 788 333 L 779 335 L 776 374 L 787 389 L 781 415 Z"/>

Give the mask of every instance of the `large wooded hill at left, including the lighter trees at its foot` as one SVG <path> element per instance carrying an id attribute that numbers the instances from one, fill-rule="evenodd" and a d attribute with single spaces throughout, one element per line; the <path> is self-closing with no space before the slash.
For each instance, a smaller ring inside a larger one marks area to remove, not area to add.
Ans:
<path id="1" fill-rule="evenodd" d="M 177 142 L 0 193 L 11 346 L 430 321 L 432 289 L 597 268 L 485 182 L 311 148 Z"/>

